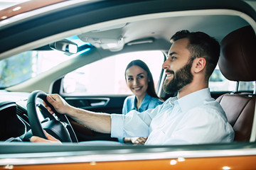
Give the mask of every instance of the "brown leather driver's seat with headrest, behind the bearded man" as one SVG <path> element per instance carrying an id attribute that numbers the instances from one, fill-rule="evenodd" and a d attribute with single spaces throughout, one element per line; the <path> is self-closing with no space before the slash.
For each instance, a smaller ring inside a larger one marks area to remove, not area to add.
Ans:
<path id="1" fill-rule="evenodd" d="M 225 78 L 231 81 L 256 80 L 255 45 L 255 32 L 250 26 L 235 30 L 223 38 L 218 65 Z M 231 94 L 217 98 L 235 130 L 235 141 L 255 142 L 255 98 L 255 90 L 250 94 L 238 92 L 238 88 Z"/>

